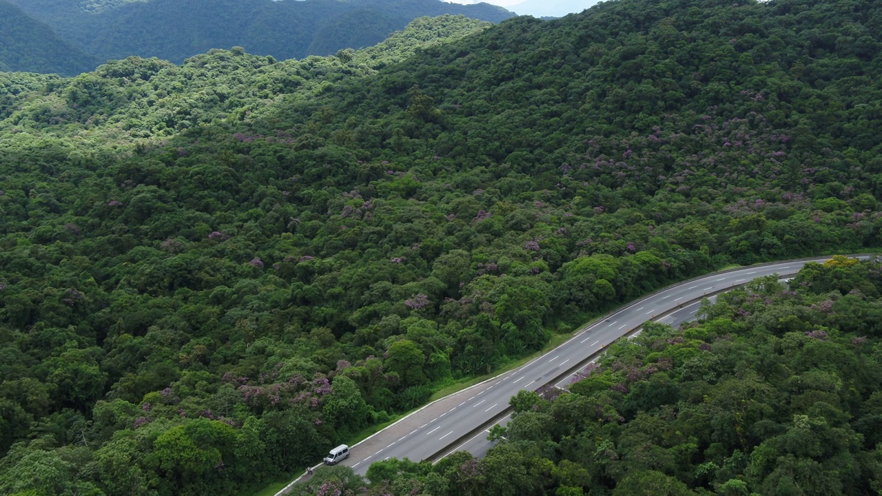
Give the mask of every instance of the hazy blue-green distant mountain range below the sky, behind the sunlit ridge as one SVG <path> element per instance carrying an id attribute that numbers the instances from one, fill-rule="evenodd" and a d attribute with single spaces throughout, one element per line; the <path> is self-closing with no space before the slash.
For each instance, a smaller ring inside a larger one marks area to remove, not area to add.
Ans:
<path id="1" fill-rule="evenodd" d="M 12 0 L 103 60 L 157 56 L 181 63 L 209 49 L 243 46 L 280 59 L 375 45 L 422 16 L 462 14 L 499 22 L 490 4 L 439 0 Z"/>

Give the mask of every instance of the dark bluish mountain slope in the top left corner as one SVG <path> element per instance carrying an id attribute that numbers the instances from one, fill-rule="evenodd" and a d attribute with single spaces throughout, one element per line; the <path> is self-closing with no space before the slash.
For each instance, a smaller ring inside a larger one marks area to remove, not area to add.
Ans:
<path id="1" fill-rule="evenodd" d="M 0 0 L 0 71 L 70 76 L 92 71 L 96 65 L 96 58 L 64 41 L 49 26 Z"/>

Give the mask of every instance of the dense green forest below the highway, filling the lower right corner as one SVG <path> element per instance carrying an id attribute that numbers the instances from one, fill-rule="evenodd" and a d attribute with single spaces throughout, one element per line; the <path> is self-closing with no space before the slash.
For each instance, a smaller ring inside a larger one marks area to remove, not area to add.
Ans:
<path id="1" fill-rule="evenodd" d="M 882 263 L 777 279 L 648 325 L 570 391 L 521 391 L 482 460 L 319 470 L 292 494 L 879 494 Z"/>

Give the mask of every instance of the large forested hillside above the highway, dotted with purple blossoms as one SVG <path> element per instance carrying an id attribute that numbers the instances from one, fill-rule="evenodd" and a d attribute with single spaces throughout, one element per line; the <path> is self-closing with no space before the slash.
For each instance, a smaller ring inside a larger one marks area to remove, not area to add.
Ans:
<path id="1" fill-rule="evenodd" d="M 621 0 L 0 75 L 0 492 L 243 492 L 670 282 L 878 247 L 880 37 Z"/>

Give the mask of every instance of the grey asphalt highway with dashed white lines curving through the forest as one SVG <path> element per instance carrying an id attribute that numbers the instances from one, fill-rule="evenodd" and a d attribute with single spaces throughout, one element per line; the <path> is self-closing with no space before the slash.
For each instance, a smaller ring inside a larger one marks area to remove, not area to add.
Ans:
<path id="1" fill-rule="evenodd" d="M 469 387 L 426 405 L 421 410 L 363 440 L 351 449 L 342 464 L 364 474 L 370 463 L 389 457 L 420 461 L 437 458 L 456 449 L 483 455 L 491 446 L 486 440 L 489 423 L 509 408 L 509 398 L 519 390 L 536 390 L 545 385 L 565 387 L 573 372 L 596 359 L 609 343 L 651 319 L 677 325 L 694 318 L 702 297 L 742 285 L 751 279 L 796 274 L 807 261 L 828 257 L 744 267 L 710 274 L 662 289 L 627 305 L 577 331 L 557 349 L 516 370 Z"/>

